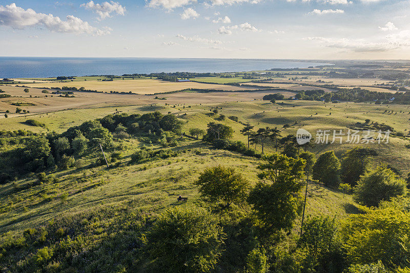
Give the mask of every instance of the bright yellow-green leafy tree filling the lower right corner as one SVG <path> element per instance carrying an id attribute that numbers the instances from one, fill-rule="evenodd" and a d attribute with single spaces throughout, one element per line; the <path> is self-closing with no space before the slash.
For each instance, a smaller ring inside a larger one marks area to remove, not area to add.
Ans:
<path id="1" fill-rule="evenodd" d="M 408 199 L 394 198 L 344 220 L 340 235 L 347 262 L 410 266 L 409 205 Z"/>

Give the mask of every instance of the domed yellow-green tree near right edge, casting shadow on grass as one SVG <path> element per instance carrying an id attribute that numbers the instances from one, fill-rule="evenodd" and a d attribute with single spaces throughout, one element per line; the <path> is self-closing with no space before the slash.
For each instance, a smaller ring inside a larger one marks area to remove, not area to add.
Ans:
<path id="1" fill-rule="evenodd" d="M 354 188 L 353 198 L 367 206 L 377 206 L 380 201 L 407 194 L 406 182 L 385 165 L 363 175 Z"/>

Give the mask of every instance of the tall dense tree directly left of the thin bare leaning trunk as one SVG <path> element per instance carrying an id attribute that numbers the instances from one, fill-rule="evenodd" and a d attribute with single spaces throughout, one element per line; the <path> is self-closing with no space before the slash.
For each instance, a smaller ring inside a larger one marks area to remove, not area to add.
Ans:
<path id="1" fill-rule="evenodd" d="M 258 169 L 259 181 L 248 202 L 253 205 L 263 227 L 290 230 L 298 215 L 305 160 L 285 155 L 265 155 Z"/>

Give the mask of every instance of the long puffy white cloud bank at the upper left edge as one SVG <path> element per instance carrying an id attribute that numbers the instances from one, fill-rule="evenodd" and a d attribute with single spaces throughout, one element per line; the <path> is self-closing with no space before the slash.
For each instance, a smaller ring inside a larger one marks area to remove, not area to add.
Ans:
<path id="1" fill-rule="evenodd" d="M 17 7 L 14 3 L 6 7 L 0 6 L 0 25 L 9 26 L 14 29 L 26 27 L 44 26 L 52 32 L 105 35 L 110 34 L 112 29 L 97 29 L 84 22 L 80 18 L 68 15 L 63 21 L 52 14 L 37 13 L 32 9 Z"/>

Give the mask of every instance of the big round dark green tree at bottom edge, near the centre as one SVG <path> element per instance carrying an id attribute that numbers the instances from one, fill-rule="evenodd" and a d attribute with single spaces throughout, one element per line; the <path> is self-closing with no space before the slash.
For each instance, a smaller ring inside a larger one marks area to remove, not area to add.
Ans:
<path id="1" fill-rule="evenodd" d="M 222 252 L 224 235 L 213 216 L 198 207 L 171 207 L 145 235 L 157 272 L 209 272 Z"/>

